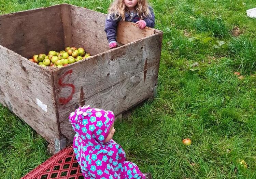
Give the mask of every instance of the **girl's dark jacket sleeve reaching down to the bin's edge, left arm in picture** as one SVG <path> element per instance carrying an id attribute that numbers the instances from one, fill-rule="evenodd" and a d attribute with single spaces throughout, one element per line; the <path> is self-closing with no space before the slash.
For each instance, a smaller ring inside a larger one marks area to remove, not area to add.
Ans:
<path id="1" fill-rule="evenodd" d="M 118 20 L 115 20 L 113 18 L 113 14 L 108 15 L 106 18 L 106 23 L 105 23 L 105 32 L 106 32 L 106 36 L 107 36 L 109 43 L 111 41 L 116 42 L 117 25 L 118 25 Z"/>

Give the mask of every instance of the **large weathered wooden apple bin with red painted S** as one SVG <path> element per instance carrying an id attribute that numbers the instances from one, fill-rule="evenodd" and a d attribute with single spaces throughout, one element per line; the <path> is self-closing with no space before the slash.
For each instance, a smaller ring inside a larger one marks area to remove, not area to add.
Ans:
<path id="1" fill-rule="evenodd" d="M 105 18 L 69 4 L 0 16 L 0 102 L 59 148 L 72 141 L 68 115 L 79 105 L 117 116 L 156 90 L 162 31 L 120 23 L 120 46 L 109 49 Z M 93 57 L 53 69 L 28 60 L 66 46 Z"/>

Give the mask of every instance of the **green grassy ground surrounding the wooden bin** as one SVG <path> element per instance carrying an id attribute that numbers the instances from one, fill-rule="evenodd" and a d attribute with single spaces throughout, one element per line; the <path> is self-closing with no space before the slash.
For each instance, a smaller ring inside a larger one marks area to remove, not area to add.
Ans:
<path id="1" fill-rule="evenodd" d="M 63 2 L 106 13 L 111 1 L 2 0 L 0 14 Z M 256 178 L 256 19 L 245 12 L 256 1 L 150 2 L 164 32 L 158 97 L 117 123 L 114 139 L 155 179 Z M 45 141 L 1 106 L 0 144 L 0 178 L 18 179 L 49 157 Z"/>

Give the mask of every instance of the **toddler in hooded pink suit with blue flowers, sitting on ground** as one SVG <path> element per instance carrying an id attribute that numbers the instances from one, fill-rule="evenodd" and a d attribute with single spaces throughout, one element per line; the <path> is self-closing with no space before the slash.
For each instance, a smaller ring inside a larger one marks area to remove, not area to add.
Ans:
<path id="1" fill-rule="evenodd" d="M 85 179 L 150 179 L 138 166 L 125 161 L 125 152 L 112 139 L 114 129 L 112 111 L 79 107 L 69 120 L 76 134 L 74 153 Z"/>

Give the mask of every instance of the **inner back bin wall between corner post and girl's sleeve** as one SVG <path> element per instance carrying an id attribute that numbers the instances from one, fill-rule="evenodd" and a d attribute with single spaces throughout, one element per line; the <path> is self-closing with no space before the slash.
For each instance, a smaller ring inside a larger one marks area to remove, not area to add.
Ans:
<path id="1" fill-rule="evenodd" d="M 91 55 L 109 50 L 104 31 L 106 14 L 77 6 L 72 6 L 70 11 L 74 46 L 85 48 Z"/>

